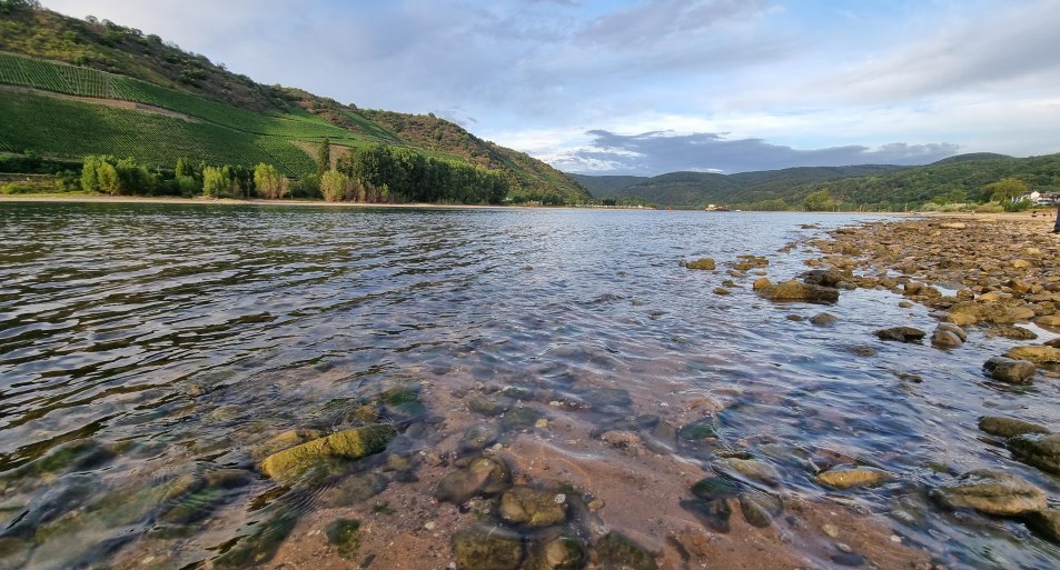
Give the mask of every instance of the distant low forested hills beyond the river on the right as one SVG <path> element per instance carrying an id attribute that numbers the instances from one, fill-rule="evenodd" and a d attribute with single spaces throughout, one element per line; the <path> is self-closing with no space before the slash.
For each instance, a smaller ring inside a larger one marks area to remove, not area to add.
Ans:
<path id="1" fill-rule="evenodd" d="M 1027 192 L 1060 192 L 1060 154 L 1013 158 L 981 152 L 923 167 L 789 168 L 729 176 L 672 172 L 648 179 L 575 177 L 598 198 L 664 207 L 702 208 L 715 203 L 751 210 L 802 209 L 808 197 L 815 194 L 815 199 L 836 208 L 890 210 L 915 208 L 929 201 L 988 202 L 995 191 L 988 187 L 1004 179 L 1014 179 Z"/>

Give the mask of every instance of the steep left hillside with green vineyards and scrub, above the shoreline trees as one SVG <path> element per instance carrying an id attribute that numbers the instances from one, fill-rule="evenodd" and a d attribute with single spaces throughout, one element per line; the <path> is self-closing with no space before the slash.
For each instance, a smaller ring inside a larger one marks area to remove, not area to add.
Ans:
<path id="1" fill-rule="evenodd" d="M 377 144 L 394 157 L 499 176 L 509 200 L 588 198 L 548 164 L 444 119 L 259 84 L 149 31 L 68 18 L 32 0 L 0 0 L 0 151 L 112 154 L 150 169 L 172 169 L 180 158 L 234 167 L 264 162 L 294 179 L 318 171 L 325 139 L 333 163 Z"/>

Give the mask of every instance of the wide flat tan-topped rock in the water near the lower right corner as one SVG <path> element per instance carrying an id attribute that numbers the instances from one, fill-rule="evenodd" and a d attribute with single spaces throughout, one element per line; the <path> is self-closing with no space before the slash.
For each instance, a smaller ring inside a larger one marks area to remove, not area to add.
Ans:
<path id="1" fill-rule="evenodd" d="M 951 509 L 975 509 L 985 514 L 1014 517 L 1046 508 L 1046 493 L 1023 479 L 1001 471 L 978 470 L 955 484 L 935 489 L 932 497 Z"/>

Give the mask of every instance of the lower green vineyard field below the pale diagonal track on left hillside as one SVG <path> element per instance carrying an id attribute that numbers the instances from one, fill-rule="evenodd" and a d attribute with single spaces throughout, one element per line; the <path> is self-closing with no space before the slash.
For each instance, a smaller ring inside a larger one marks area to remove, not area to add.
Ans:
<path id="1" fill-rule="evenodd" d="M 70 158 L 106 153 L 151 166 L 171 166 L 179 157 L 212 164 L 280 161 L 276 166 L 290 176 L 316 168 L 301 149 L 276 137 L 50 97 L 0 91 L 0 148 L 14 151 L 47 149 Z M 269 142 L 259 146 L 259 140 Z"/>

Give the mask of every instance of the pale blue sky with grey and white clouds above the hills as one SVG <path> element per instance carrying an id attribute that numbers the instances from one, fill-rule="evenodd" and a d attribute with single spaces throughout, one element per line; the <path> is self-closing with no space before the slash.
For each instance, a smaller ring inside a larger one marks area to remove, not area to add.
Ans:
<path id="1" fill-rule="evenodd" d="M 567 171 L 1060 152 L 1060 0 L 43 0 Z"/>

